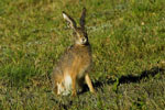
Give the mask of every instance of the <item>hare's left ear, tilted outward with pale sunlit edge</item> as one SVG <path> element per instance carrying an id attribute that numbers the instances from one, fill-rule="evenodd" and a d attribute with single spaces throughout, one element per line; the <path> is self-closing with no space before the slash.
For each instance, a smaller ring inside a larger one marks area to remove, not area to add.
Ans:
<path id="1" fill-rule="evenodd" d="M 66 12 L 63 11 L 63 18 L 69 23 L 69 26 L 75 30 L 76 29 L 76 22 L 73 18 L 70 18 Z"/>

